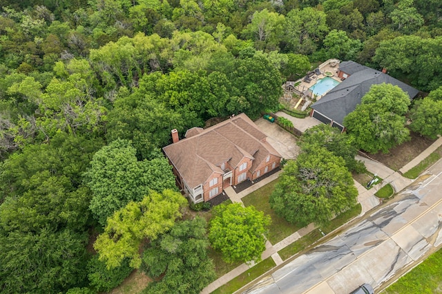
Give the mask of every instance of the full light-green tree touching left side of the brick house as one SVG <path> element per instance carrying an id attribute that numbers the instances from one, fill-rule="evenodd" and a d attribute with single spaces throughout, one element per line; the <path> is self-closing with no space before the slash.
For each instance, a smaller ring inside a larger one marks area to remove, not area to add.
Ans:
<path id="1" fill-rule="evenodd" d="M 93 192 L 90 210 L 102 226 L 115 211 L 141 201 L 150 190 L 176 189 L 166 158 L 138 161 L 128 140 L 115 140 L 97 151 L 85 176 Z"/>

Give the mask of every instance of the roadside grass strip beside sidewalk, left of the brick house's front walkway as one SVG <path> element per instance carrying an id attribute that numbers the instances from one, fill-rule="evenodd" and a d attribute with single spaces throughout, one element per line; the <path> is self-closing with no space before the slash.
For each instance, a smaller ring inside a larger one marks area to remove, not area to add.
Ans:
<path id="1" fill-rule="evenodd" d="M 251 269 L 248 269 L 241 275 L 238 275 L 238 277 L 235 277 L 227 284 L 220 286 L 220 288 L 216 289 L 212 293 L 213 294 L 233 293 L 242 286 L 245 286 L 247 283 L 255 280 L 263 273 L 269 271 L 270 269 L 273 269 L 274 266 L 276 266 L 276 264 L 275 262 L 273 262 L 273 259 L 271 257 L 262 260 L 262 262 L 256 264 L 256 266 L 253 266 Z"/>

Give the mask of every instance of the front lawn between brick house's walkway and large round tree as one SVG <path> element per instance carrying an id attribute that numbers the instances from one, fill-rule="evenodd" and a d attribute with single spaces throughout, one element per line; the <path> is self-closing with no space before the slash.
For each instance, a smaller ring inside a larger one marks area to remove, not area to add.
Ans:
<path id="1" fill-rule="evenodd" d="M 276 213 L 270 208 L 269 196 L 275 189 L 277 182 L 278 180 L 273 180 L 273 182 L 269 182 L 269 184 L 264 187 L 261 187 L 242 198 L 242 202 L 246 207 L 253 205 L 259 211 L 263 211 L 266 215 L 270 216 L 271 225 L 269 227 L 267 238 L 271 244 L 276 244 L 280 242 L 280 240 L 301 229 L 301 227 L 296 226 L 296 224 L 291 224 L 284 218 L 276 216 Z"/>

